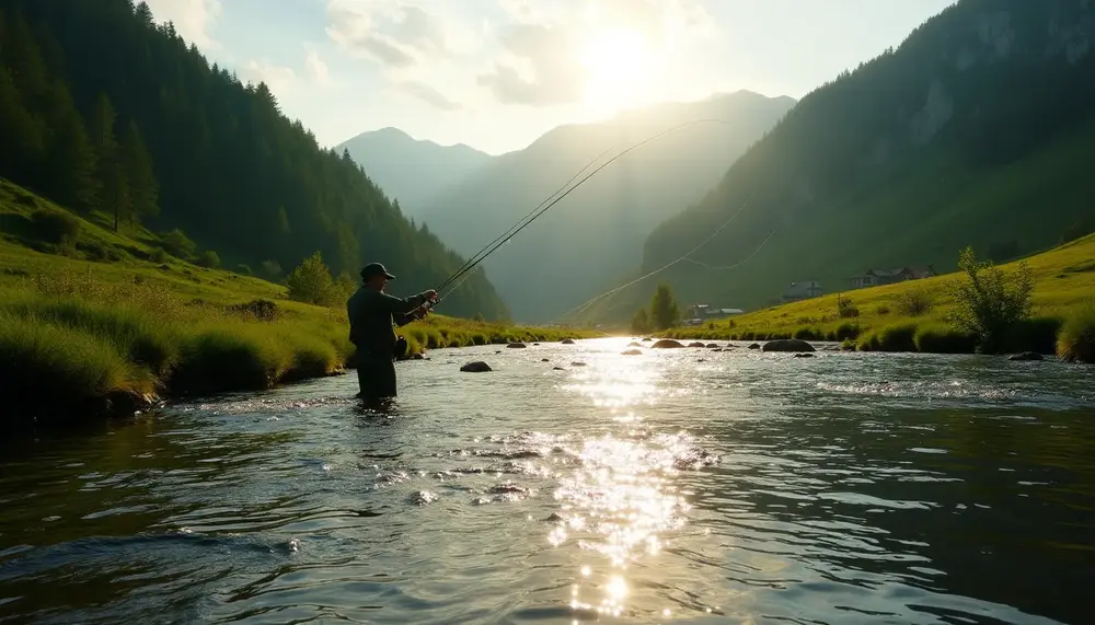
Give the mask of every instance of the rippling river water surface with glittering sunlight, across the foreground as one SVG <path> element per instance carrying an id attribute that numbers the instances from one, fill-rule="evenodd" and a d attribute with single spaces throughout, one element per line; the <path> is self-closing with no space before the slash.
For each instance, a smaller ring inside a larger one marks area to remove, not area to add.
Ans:
<path id="1" fill-rule="evenodd" d="M 0 623 L 1095 618 L 1095 368 L 630 340 L 7 440 Z"/>

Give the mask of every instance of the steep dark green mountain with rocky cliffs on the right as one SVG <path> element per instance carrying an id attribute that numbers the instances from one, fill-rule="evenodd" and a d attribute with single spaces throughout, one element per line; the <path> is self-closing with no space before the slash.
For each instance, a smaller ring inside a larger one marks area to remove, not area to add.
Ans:
<path id="1" fill-rule="evenodd" d="M 1088 231 L 1093 37 L 1088 0 L 960 0 L 804 97 L 650 234 L 631 274 L 680 259 L 748 207 L 587 319 L 626 320 L 658 280 L 683 303 L 753 309 L 792 282 L 848 291 L 873 268 L 953 270 L 967 244 L 1002 262 Z"/>

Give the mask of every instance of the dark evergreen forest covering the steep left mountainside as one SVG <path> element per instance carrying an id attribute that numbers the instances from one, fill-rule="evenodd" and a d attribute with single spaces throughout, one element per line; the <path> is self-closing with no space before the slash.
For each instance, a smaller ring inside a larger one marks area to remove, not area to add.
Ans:
<path id="1" fill-rule="evenodd" d="M 145 2 L 0 0 L 0 176 L 116 228 L 181 229 L 226 263 L 279 274 L 319 253 L 356 280 L 381 261 L 410 293 L 464 261 Z M 508 317 L 482 274 L 442 312 Z"/>

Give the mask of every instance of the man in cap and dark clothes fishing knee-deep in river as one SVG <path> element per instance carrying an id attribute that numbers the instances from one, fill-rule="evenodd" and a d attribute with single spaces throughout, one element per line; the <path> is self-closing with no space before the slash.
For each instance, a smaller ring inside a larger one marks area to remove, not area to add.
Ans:
<path id="1" fill-rule="evenodd" d="M 384 292 L 395 276 L 380 263 L 361 269 L 364 285 L 346 301 L 349 340 L 357 346 L 358 397 L 367 401 L 395 396 L 395 357 L 406 351 L 406 340 L 396 338 L 395 326 L 426 316 L 426 302 L 437 300 L 434 290 L 406 299 Z"/>

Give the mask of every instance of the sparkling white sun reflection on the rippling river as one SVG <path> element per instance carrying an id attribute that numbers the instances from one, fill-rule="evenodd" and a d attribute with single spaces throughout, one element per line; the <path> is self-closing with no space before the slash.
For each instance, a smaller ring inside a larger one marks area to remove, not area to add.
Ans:
<path id="1" fill-rule="evenodd" d="M 552 528 L 548 541 L 554 547 L 574 545 L 596 554 L 579 556 L 588 562 L 570 588 L 570 607 L 620 616 L 627 612 L 629 600 L 637 599 L 629 566 L 657 557 L 670 534 L 685 524 L 690 506 L 675 476 L 693 467 L 690 459 L 698 453 L 691 436 L 654 435 L 643 426 L 642 410 L 636 408 L 654 403 L 662 368 L 614 355 L 591 364 L 573 378 L 568 390 L 608 408 L 606 418 L 614 429 L 588 436 L 576 445 L 579 462 L 560 475 L 554 493 L 562 522 Z M 670 610 L 655 614 L 668 616 Z"/>

